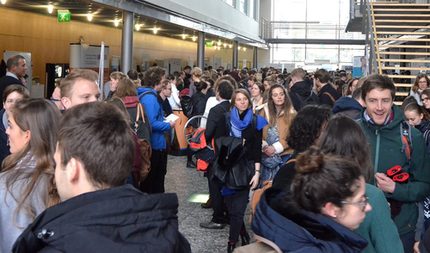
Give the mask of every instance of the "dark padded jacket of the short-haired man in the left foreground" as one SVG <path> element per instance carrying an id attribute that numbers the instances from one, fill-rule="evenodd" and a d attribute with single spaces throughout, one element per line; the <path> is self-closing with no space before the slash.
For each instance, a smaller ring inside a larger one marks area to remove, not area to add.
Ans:
<path id="1" fill-rule="evenodd" d="M 131 185 L 85 193 L 40 214 L 13 252 L 191 252 L 177 211 L 176 194 Z"/>

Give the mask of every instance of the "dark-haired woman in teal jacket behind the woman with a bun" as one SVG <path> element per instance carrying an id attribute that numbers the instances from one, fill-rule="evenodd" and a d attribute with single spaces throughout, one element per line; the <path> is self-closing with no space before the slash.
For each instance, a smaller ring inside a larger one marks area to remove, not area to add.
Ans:
<path id="1" fill-rule="evenodd" d="M 366 182 L 373 181 L 373 168 L 369 144 L 361 127 L 354 120 L 345 117 L 331 119 L 318 141 L 324 154 L 339 155 L 357 163 Z M 372 206 L 356 232 L 368 241 L 363 250 L 366 253 L 403 252 L 397 227 L 391 219 L 390 206 L 384 193 L 367 183 L 366 195 Z"/>

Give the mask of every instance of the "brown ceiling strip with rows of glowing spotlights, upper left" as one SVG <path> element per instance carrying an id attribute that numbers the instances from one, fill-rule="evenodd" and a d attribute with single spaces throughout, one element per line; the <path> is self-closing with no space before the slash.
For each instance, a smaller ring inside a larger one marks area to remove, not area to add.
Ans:
<path id="1" fill-rule="evenodd" d="M 3 1 L 3 0 L 2 0 Z M 54 10 L 51 14 L 48 13 L 48 4 L 52 4 Z M 57 10 L 69 10 L 71 12 L 72 21 L 78 20 L 81 22 L 88 22 L 92 24 L 98 24 L 103 26 L 115 27 L 115 20 L 117 20 L 118 29 L 122 29 L 122 11 L 114 9 L 113 7 L 100 5 L 92 1 L 84 0 L 7 0 L 5 5 L 0 7 L 11 8 L 14 10 L 22 10 L 33 13 L 39 13 L 47 16 L 57 16 Z M 88 21 L 88 15 L 92 14 L 92 21 Z M 163 22 L 160 20 L 148 18 L 141 15 L 135 14 L 135 24 L 140 24 L 140 30 L 138 32 L 157 34 L 164 37 L 170 37 L 175 39 L 186 39 L 194 40 L 197 39 L 197 31 L 187 29 L 172 23 Z M 135 26 L 136 28 L 136 26 Z M 154 29 L 156 32 L 154 32 Z M 135 29 L 136 31 L 136 29 Z M 232 44 L 232 41 L 220 38 L 214 35 L 206 34 L 207 41 L 218 41 L 221 40 L 221 47 L 228 47 Z M 214 46 L 216 46 L 215 44 Z M 220 45 L 220 43 L 218 43 Z"/>

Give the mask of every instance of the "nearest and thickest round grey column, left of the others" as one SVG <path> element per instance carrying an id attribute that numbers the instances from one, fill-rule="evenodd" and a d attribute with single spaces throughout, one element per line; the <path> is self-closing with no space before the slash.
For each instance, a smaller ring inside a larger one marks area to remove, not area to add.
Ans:
<path id="1" fill-rule="evenodd" d="M 134 14 L 129 11 L 122 13 L 122 41 L 121 41 L 121 71 L 127 73 L 133 60 L 133 27 Z"/>

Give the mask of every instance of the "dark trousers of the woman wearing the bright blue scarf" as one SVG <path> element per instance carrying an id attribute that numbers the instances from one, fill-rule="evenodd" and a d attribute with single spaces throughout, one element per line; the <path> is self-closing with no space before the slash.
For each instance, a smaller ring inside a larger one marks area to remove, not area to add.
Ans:
<path id="1" fill-rule="evenodd" d="M 240 230 L 243 226 L 243 217 L 248 205 L 248 195 L 249 189 L 237 191 L 233 195 L 224 197 L 230 217 L 229 242 L 237 242 L 239 240 Z"/>

